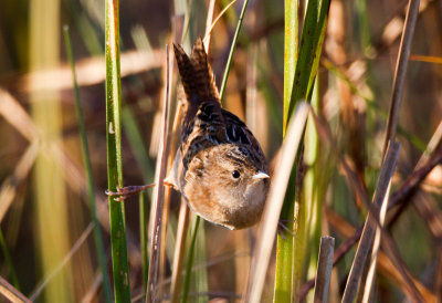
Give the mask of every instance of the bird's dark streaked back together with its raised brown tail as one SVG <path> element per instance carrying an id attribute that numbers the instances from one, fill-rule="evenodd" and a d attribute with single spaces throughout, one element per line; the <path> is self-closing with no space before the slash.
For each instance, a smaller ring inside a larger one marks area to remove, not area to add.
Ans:
<path id="1" fill-rule="evenodd" d="M 254 150 L 256 161 L 263 161 L 260 144 L 246 125 L 232 113 L 222 109 L 208 62 L 202 39 L 193 45 L 190 58 L 180 45 L 173 45 L 181 83 L 186 92 L 181 154 L 187 169 L 188 163 L 200 150 L 220 144 L 241 144 Z"/>

